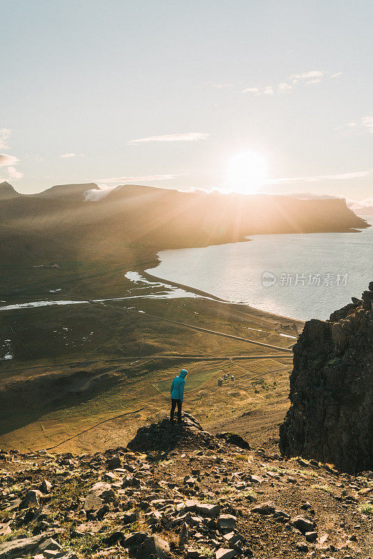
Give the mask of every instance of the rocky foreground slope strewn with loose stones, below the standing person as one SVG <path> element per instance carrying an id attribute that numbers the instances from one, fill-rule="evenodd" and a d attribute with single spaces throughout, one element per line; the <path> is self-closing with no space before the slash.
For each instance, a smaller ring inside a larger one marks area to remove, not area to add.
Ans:
<path id="1" fill-rule="evenodd" d="M 0 558 L 370 557 L 369 474 L 184 422 L 94 456 L 1 452 Z"/>

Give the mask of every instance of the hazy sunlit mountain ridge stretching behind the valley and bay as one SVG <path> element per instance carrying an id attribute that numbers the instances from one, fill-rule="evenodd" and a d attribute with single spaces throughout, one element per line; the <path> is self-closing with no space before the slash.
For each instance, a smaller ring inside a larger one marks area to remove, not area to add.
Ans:
<path id="1" fill-rule="evenodd" d="M 1 197 L 1 190 L 3 197 Z M 85 194 L 89 191 L 90 195 Z M 92 195 L 93 193 L 93 195 Z M 96 201 L 93 201 L 96 200 Z M 62 184 L 22 195 L 0 184 L 0 259 L 121 260 L 161 249 L 244 240 L 258 233 L 353 231 L 364 219 L 344 199 L 206 194 L 124 185 Z M 140 251 L 140 252 L 139 252 Z M 125 254 L 126 253 L 126 254 Z"/>

